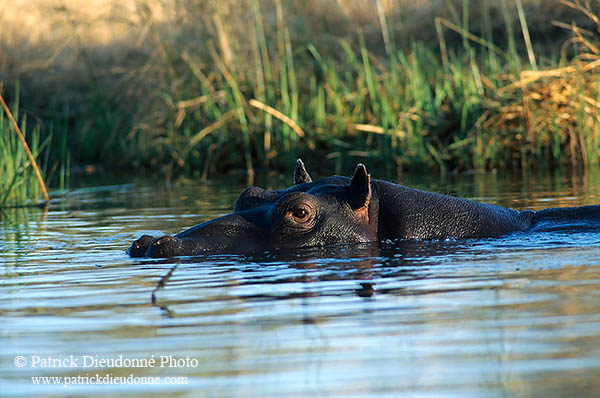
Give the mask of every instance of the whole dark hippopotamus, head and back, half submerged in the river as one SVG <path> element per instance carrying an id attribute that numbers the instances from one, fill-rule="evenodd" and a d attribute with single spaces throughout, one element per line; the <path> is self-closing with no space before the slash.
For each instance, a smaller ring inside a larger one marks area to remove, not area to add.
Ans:
<path id="1" fill-rule="evenodd" d="M 313 181 L 299 159 L 292 187 L 246 188 L 233 213 L 174 236 L 142 235 L 128 253 L 173 257 L 401 239 L 490 238 L 573 218 L 597 222 L 600 205 L 518 211 L 372 179 L 363 164 L 352 177 Z"/>

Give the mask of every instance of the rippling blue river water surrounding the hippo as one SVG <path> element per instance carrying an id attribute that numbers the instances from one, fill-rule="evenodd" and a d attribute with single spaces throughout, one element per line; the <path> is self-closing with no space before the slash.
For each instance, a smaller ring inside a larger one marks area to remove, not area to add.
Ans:
<path id="1" fill-rule="evenodd" d="M 515 208 L 600 203 L 591 177 L 402 183 Z M 241 188 L 138 181 L 3 211 L 0 395 L 598 396 L 600 232 L 125 254 L 228 213 Z"/>

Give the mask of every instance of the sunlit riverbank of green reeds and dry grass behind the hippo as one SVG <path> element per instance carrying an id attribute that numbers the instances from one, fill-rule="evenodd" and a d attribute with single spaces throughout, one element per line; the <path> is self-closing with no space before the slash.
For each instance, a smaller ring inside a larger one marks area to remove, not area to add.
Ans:
<path id="1" fill-rule="evenodd" d="M 598 167 L 596 2 L 92 3 L 0 13 L 5 92 L 20 84 L 21 113 L 42 121 L 32 139 L 60 126 L 47 145 L 76 165 L 200 178 L 299 156 L 392 174 Z"/>

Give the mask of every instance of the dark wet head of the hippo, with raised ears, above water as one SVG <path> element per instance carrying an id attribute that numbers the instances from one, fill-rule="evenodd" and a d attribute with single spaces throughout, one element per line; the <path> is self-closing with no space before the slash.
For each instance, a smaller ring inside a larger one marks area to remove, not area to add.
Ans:
<path id="1" fill-rule="evenodd" d="M 295 185 L 282 191 L 245 189 L 234 212 L 175 236 L 143 235 L 132 257 L 242 253 L 377 241 L 378 199 L 364 165 L 352 178 L 312 181 L 301 160 Z"/>

